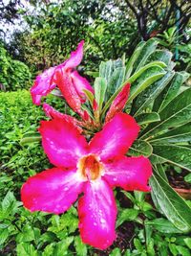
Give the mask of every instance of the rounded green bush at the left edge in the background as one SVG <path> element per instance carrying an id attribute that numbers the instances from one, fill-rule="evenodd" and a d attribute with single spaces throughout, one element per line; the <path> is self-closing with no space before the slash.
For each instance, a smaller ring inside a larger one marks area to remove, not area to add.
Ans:
<path id="1" fill-rule="evenodd" d="M 0 83 L 6 90 L 29 88 L 31 72 L 23 62 L 12 59 L 0 43 Z"/>

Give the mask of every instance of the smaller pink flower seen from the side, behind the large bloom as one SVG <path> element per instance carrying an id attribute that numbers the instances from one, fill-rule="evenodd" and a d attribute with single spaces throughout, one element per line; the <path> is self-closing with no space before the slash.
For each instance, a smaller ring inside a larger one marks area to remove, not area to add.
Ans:
<path id="1" fill-rule="evenodd" d="M 36 77 L 31 88 L 33 104 L 40 105 L 42 96 L 49 94 L 57 85 L 68 105 L 82 117 L 84 116 L 81 110 L 81 104 L 86 100 L 83 89 L 90 90 L 93 93 L 94 89 L 89 81 L 82 78 L 74 70 L 83 58 L 83 44 L 84 41 L 81 41 L 76 51 L 72 52 L 71 57 L 66 61 L 58 66 L 45 70 L 41 75 Z"/>

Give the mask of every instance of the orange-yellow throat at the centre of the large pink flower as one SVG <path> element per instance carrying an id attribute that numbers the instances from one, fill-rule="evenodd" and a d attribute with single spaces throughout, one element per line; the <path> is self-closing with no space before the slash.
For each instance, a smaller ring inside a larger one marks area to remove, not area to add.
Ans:
<path id="1" fill-rule="evenodd" d="M 96 154 L 89 154 L 81 157 L 78 161 L 77 167 L 80 175 L 83 178 L 88 178 L 89 180 L 95 180 L 103 171 L 103 165 Z"/>

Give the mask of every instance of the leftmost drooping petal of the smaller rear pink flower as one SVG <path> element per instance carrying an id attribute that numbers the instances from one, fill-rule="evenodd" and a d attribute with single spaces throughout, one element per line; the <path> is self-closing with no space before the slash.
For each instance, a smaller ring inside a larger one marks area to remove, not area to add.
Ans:
<path id="1" fill-rule="evenodd" d="M 45 70 L 41 75 L 38 75 L 34 81 L 31 88 L 32 103 L 35 105 L 40 105 L 40 100 L 42 96 L 49 94 L 56 84 L 52 81 L 55 67 L 51 67 Z"/>

